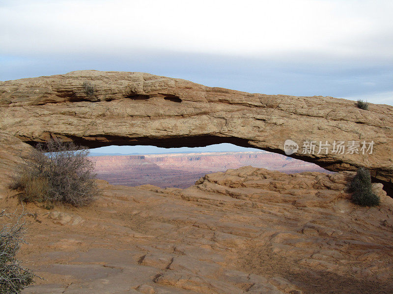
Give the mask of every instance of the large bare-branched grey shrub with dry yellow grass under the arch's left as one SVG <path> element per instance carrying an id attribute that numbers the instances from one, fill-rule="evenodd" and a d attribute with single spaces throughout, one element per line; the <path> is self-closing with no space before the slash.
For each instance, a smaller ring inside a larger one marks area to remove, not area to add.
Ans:
<path id="1" fill-rule="evenodd" d="M 44 202 L 46 208 L 56 202 L 88 205 L 99 194 L 88 153 L 71 142 L 38 144 L 23 156 L 9 188 L 19 191 L 22 201 Z"/>

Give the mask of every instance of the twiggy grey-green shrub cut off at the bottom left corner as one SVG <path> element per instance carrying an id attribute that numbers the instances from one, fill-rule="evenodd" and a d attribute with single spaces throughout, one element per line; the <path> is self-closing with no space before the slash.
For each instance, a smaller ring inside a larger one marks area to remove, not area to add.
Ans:
<path id="1" fill-rule="evenodd" d="M 22 267 L 15 258 L 21 244 L 25 243 L 25 228 L 20 222 L 21 217 L 18 217 L 14 224 L 3 224 L 0 231 L 0 293 L 18 294 L 33 282 L 33 273 Z M 15 215 L 1 211 L 0 221 L 3 223 L 6 218 L 13 221 Z"/>

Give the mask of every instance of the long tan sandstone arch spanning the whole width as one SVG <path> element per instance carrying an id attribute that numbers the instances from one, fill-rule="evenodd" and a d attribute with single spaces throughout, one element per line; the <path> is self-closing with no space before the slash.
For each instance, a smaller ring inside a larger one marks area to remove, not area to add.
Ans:
<path id="1" fill-rule="evenodd" d="M 361 110 L 354 101 L 332 97 L 249 94 L 148 73 L 77 71 L 0 82 L 0 114 L 4 179 L 18 150 L 51 136 L 89 147 L 226 142 L 281 154 L 286 139 L 300 145 L 365 140 L 374 141 L 373 154 L 291 156 L 331 171 L 363 166 L 393 187 L 389 105 Z"/>

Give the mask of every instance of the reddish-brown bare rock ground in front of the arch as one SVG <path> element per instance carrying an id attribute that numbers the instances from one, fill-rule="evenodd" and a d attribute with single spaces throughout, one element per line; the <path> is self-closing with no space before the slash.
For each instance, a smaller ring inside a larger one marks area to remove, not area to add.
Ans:
<path id="1" fill-rule="evenodd" d="M 187 189 L 101 181 L 86 208 L 29 204 L 19 258 L 46 280 L 23 293 L 390 294 L 393 199 L 374 184 L 380 207 L 353 205 L 353 174 L 244 167 Z"/>

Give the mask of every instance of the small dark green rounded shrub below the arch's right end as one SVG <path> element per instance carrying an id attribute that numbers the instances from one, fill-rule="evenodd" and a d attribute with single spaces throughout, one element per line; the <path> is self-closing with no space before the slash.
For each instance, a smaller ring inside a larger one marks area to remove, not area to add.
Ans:
<path id="1" fill-rule="evenodd" d="M 351 182 L 352 201 L 361 206 L 379 205 L 380 198 L 371 189 L 371 176 L 365 168 L 358 169 Z"/>

